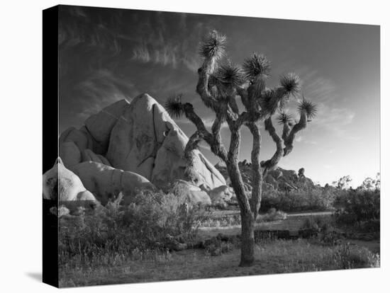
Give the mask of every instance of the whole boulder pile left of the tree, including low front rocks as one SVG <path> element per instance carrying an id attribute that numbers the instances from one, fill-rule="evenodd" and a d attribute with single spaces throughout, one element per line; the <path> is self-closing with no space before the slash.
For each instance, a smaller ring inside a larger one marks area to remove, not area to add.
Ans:
<path id="1" fill-rule="evenodd" d="M 167 190 L 179 180 L 189 193 L 189 202 L 210 205 L 210 197 L 198 186 L 213 190 L 226 184 L 198 149 L 189 166 L 184 159 L 188 137 L 147 94 L 131 103 L 119 100 L 108 105 L 84 123 L 60 135 L 62 161 L 45 173 L 45 198 L 93 198 L 106 205 L 122 193 L 126 203 L 140 190 Z"/>

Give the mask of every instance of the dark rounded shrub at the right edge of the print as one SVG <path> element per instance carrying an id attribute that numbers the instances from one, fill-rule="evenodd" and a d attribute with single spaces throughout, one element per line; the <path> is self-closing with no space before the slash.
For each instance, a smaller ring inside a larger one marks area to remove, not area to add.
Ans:
<path id="1" fill-rule="evenodd" d="M 336 199 L 335 220 L 361 231 L 380 229 L 380 190 L 348 190 Z"/>

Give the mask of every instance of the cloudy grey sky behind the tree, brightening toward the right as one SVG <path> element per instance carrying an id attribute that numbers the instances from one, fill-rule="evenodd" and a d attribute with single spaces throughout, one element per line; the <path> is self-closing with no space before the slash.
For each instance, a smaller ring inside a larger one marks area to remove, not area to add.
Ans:
<path id="1" fill-rule="evenodd" d="M 222 62 L 240 65 L 252 52 L 265 54 L 272 63 L 267 86 L 295 72 L 301 94 L 318 105 L 318 115 L 297 134 L 280 167 L 303 167 L 321 185 L 349 175 L 356 186 L 380 171 L 378 25 L 81 6 L 61 6 L 59 25 L 60 132 L 140 93 L 162 105 L 182 93 L 210 127 L 213 113 L 195 87 L 199 41 L 215 29 L 228 40 Z M 296 117 L 299 98 L 288 105 Z M 184 117 L 175 121 L 187 136 L 195 131 Z M 252 137 L 245 128 L 242 134 L 240 160 L 249 161 Z M 222 136 L 228 146 L 228 127 Z M 269 159 L 274 150 L 263 127 L 261 158 Z M 206 144 L 201 151 L 218 163 Z"/>

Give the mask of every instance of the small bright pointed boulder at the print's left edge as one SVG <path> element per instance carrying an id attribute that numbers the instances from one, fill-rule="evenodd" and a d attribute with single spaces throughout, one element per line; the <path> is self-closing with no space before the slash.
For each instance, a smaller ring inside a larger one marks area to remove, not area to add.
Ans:
<path id="1" fill-rule="evenodd" d="M 83 185 L 72 171 L 65 168 L 60 158 L 54 166 L 43 174 L 43 198 L 67 202 L 88 200 L 96 202 L 96 198 Z"/>

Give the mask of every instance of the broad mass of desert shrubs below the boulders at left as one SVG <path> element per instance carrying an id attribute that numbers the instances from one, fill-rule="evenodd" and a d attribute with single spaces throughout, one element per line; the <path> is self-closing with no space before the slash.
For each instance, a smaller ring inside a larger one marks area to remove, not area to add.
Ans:
<path id="1" fill-rule="evenodd" d="M 60 264 L 121 263 L 131 255 L 165 251 L 167 238 L 194 238 L 199 208 L 184 205 L 184 198 L 143 192 L 128 207 L 120 199 L 99 207 L 94 214 L 60 219 Z"/>

